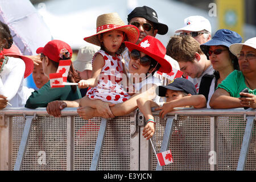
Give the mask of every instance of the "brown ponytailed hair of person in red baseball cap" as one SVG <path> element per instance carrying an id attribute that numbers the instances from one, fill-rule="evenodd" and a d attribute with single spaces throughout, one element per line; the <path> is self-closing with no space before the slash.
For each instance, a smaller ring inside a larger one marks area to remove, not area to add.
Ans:
<path id="1" fill-rule="evenodd" d="M 45 57 L 45 55 L 44 55 L 43 53 L 41 53 L 41 55 Z M 64 57 L 64 58 L 61 59 L 61 60 L 69 60 L 69 59 L 71 59 L 71 58 L 70 58 L 70 57 Z M 58 67 L 59 67 L 59 63 L 57 63 L 57 62 L 55 62 L 55 61 L 49 59 L 49 57 L 48 57 L 48 60 L 51 61 L 52 65 L 53 65 L 55 68 L 58 68 Z M 68 80 L 69 82 L 73 82 L 73 83 L 78 83 L 78 82 L 81 80 L 79 74 L 77 73 L 77 71 L 76 71 L 76 70 L 74 69 L 74 67 L 73 67 L 72 61 L 71 61 L 71 65 L 70 65 L 70 68 L 69 68 L 67 80 Z M 76 92 L 76 88 L 77 88 L 76 85 L 71 85 L 71 89 L 72 89 L 72 91 L 73 91 L 74 93 Z"/>

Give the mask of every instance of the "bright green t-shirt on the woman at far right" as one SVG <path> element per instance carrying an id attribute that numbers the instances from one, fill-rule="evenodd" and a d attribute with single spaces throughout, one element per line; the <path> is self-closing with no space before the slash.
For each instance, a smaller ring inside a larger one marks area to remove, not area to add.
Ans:
<path id="1" fill-rule="evenodd" d="M 221 82 L 221 84 L 218 84 L 217 89 L 218 88 L 222 88 L 228 91 L 231 97 L 239 98 L 240 97 L 239 93 L 243 89 L 247 88 L 245 84 L 245 77 L 243 76 L 241 71 L 235 70 L 232 73 L 230 73 L 225 78 L 225 80 Z M 256 89 L 251 90 L 248 88 L 248 90 L 249 90 L 249 93 L 256 95 Z"/>

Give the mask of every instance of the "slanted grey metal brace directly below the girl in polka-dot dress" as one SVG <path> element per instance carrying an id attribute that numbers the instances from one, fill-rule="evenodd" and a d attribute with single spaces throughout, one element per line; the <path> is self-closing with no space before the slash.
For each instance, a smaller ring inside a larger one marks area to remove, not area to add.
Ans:
<path id="1" fill-rule="evenodd" d="M 93 153 L 92 164 L 90 165 L 90 171 L 98 170 L 98 163 L 100 163 L 101 151 L 104 144 L 107 128 L 108 128 L 108 119 L 102 118 L 100 130 L 98 131 L 96 146 Z"/>

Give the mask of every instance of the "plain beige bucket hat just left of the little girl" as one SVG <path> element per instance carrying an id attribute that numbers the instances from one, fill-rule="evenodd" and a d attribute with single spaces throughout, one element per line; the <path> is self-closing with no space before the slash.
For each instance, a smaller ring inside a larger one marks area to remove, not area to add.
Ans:
<path id="1" fill-rule="evenodd" d="M 100 50 L 100 47 L 93 44 L 81 47 L 77 54 L 77 59 L 73 61 L 73 67 L 80 72 L 85 70 L 92 71 L 92 59 L 98 50 Z"/>

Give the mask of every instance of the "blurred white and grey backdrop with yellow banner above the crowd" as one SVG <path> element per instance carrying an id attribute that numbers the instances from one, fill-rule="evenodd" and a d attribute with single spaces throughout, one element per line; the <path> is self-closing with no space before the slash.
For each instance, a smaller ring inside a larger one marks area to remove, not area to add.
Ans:
<path id="1" fill-rule="evenodd" d="M 127 15 L 144 5 L 156 11 L 159 22 L 168 25 L 166 35 L 156 36 L 165 46 L 174 31 L 184 26 L 184 18 L 191 15 L 209 19 L 212 35 L 220 28 L 228 28 L 237 31 L 243 42 L 256 36 L 255 0 L 31 0 L 31 3 L 43 16 L 53 38 L 64 40 L 73 49 L 84 46 L 83 38 L 96 33 L 98 15 L 117 12 L 127 23 Z"/>

